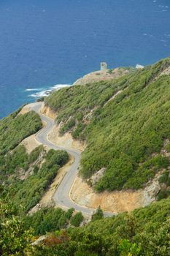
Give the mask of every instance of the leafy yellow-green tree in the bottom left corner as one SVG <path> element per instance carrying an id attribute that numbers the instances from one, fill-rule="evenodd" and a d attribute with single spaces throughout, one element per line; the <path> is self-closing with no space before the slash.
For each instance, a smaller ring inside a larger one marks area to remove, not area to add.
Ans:
<path id="1" fill-rule="evenodd" d="M 31 247 L 31 230 L 25 230 L 20 212 L 8 199 L 0 200 L 0 255 L 23 255 Z"/>

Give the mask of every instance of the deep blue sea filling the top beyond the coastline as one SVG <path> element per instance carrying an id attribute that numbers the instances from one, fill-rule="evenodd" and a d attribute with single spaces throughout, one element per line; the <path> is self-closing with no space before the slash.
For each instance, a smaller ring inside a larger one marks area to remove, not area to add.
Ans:
<path id="1" fill-rule="evenodd" d="M 170 55 L 169 0 L 0 0 L 0 118 L 34 93 Z"/>

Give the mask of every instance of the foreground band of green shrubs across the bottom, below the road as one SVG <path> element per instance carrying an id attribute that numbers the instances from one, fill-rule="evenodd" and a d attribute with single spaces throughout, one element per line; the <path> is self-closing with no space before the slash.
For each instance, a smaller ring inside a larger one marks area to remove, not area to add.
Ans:
<path id="1" fill-rule="evenodd" d="M 166 199 L 131 214 L 101 216 L 84 227 L 58 230 L 69 223 L 72 209 L 66 213 L 44 209 L 28 217 L 1 196 L 0 252 L 3 256 L 169 256 L 169 208 Z M 44 241 L 31 245 L 37 236 L 50 231 Z"/>

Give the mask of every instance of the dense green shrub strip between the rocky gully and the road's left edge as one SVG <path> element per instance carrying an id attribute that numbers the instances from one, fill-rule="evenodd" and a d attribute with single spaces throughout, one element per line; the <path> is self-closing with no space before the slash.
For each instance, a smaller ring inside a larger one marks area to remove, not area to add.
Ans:
<path id="1" fill-rule="evenodd" d="M 9 186 L 9 192 L 15 203 L 22 204 L 25 211 L 34 207 L 52 183 L 59 168 L 65 165 L 68 159 L 69 155 L 66 151 L 50 149 L 41 168 L 34 167 L 33 175 L 28 176 L 24 181 L 17 180 Z"/>

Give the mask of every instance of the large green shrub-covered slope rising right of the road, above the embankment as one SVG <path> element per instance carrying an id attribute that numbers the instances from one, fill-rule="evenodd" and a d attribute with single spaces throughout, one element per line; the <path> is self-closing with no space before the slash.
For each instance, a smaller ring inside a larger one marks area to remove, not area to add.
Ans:
<path id="1" fill-rule="evenodd" d="M 82 177 L 107 167 L 96 184 L 99 192 L 139 189 L 168 167 L 161 148 L 170 140 L 170 76 L 160 75 L 169 66 L 170 59 L 165 59 L 117 80 L 74 86 L 47 97 L 58 123 L 63 121 L 61 134 L 70 130 L 74 138 L 87 140 Z"/>

